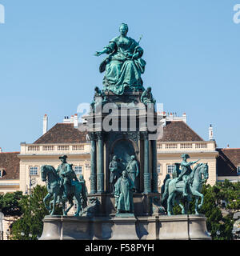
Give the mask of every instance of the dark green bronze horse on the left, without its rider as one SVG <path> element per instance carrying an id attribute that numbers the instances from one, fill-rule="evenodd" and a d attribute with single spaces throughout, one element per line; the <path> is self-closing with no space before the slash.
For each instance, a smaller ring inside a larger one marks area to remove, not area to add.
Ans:
<path id="1" fill-rule="evenodd" d="M 84 182 L 72 181 L 70 190 L 68 190 L 67 197 L 63 197 L 64 186 L 61 186 L 61 178 L 53 166 L 42 166 L 41 167 L 42 182 L 47 182 L 48 194 L 43 199 L 46 209 L 49 210 L 50 215 L 54 215 L 55 206 L 57 203 L 62 202 L 62 214 L 66 216 L 69 210 L 74 206 L 74 199 L 77 201 L 77 211 L 74 216 L 81 214 L 82 208 L 87 206 L 86 187 Z M 53 198 L 50 201 L 50 205 L 47 206 L 46 200 Z M 70 203 L 70 206 L 66 209 L 66 202 Z M 66 209 L 66 210 L 65 210 Z"/>

